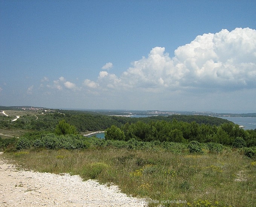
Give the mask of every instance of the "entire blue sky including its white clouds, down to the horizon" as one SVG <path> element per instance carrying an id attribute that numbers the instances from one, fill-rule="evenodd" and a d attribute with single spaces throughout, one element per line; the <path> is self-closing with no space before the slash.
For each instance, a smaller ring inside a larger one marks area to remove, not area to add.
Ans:
<path id="1" fill-rule="evenodd" d="M 0 105 L 256 112 L 255 1 L 0 1 Z"/>

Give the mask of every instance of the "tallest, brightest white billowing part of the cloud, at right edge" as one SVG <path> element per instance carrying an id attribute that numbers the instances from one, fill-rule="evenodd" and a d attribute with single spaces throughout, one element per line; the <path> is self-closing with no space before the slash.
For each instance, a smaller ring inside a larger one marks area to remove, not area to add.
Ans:
<path id="1" fill-rule="evenodd" d="M 191 87 L 241 89 L 255 87 L 256 31 L 236 28 L 198 36 L 175 50 L 175 65 L 186 74 L 180 80 Z"/>

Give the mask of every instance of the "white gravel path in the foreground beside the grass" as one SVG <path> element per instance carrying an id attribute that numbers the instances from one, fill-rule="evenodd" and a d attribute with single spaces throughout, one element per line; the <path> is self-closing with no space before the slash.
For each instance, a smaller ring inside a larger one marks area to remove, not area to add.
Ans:
<path id="1" fill-rule="evenodd" d="M 120 193 L 118 186 L 82 181 L 78 175 L 18 170 L 0 154 L 0 206 L 146 206 L 142 199 Z"/>

